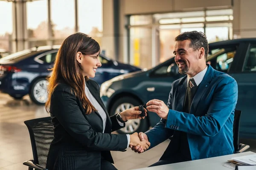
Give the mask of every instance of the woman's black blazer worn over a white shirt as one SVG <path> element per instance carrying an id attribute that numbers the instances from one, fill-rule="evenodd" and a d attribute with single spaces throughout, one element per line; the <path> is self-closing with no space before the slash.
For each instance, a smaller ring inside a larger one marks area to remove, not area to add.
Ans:
<path id="1" fill-rule="evenodd" d="M 93 111 L 86 115 L 71 87 L 60 83 L 50 103 L 54 139 L 47 157 L 49 170 L 100 170 L 102 156 L 113 163 L 110 150 L 123 151 L 127 148 L 126 135 L 111 134 L 122 126 L 115 115 L 109 117 L 100 99 L 99 85 L 90 79 L 86 85 L 107 114 L 105 132 L 102 133 L 99 113 Z"/>

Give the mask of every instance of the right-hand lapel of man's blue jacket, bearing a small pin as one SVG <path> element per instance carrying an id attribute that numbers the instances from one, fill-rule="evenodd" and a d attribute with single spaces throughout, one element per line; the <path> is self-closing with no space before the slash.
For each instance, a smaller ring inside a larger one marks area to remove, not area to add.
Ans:
<path id="1" fill-rule="evenodd" d="M 208 64 L 207 64 L 208 65 Z M 200 83 L 200 85 L 198 86 L 197 92 L 195 93 L 195 96 L 192 100 L 191 103 L 191 108 L 190 108 L 190 112 L 196 116 L 196 109 L 197 109 L 197 105 L 200 102 L 200 99 L 202 98 L 202 96 L 204 95 L 205 91 L 207 90 L 207 88 L 209 88 L 209 84 L 210 81 L 212 79 L 212 73 L 213 73 L 213 68 L 208 65 L 208 69 L 206 74 L 204 75 L 204 78 L 202 80 L 202 82 Z"/>

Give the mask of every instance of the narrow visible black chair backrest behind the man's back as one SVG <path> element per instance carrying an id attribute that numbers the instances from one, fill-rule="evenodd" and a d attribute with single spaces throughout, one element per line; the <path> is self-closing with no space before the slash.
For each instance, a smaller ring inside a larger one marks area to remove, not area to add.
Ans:
<path id="1" fill-rule="evenodd" d="M 239 149 L 239 125 L 241 113 L 242 111 L 235 110 L 235 117 L 233 122 L 233 144 L 235 152 Z"/>

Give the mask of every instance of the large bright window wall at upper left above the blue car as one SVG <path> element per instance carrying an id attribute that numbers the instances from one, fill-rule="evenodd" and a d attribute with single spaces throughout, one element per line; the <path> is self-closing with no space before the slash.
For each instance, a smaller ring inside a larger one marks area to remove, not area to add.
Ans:
<path id="1" fill-rule="evenodd" d="M 61 45 L 75 32 L 101 44 L 102 0 L 0 0 L 0 23 L 0 57 L 9 51 Z"/>

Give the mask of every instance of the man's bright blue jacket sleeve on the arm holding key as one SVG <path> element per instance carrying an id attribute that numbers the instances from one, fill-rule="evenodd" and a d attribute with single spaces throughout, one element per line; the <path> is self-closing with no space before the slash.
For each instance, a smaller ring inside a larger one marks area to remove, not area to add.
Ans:
<path id="1" fill-rule="evenodd" d="M 201 136 L 215 136 L 234 112 L 238 98 L 235 79 L 224 77 L 215 88 L 212 102 L 205 116 L 169 110 L 166 127 Z"/>

